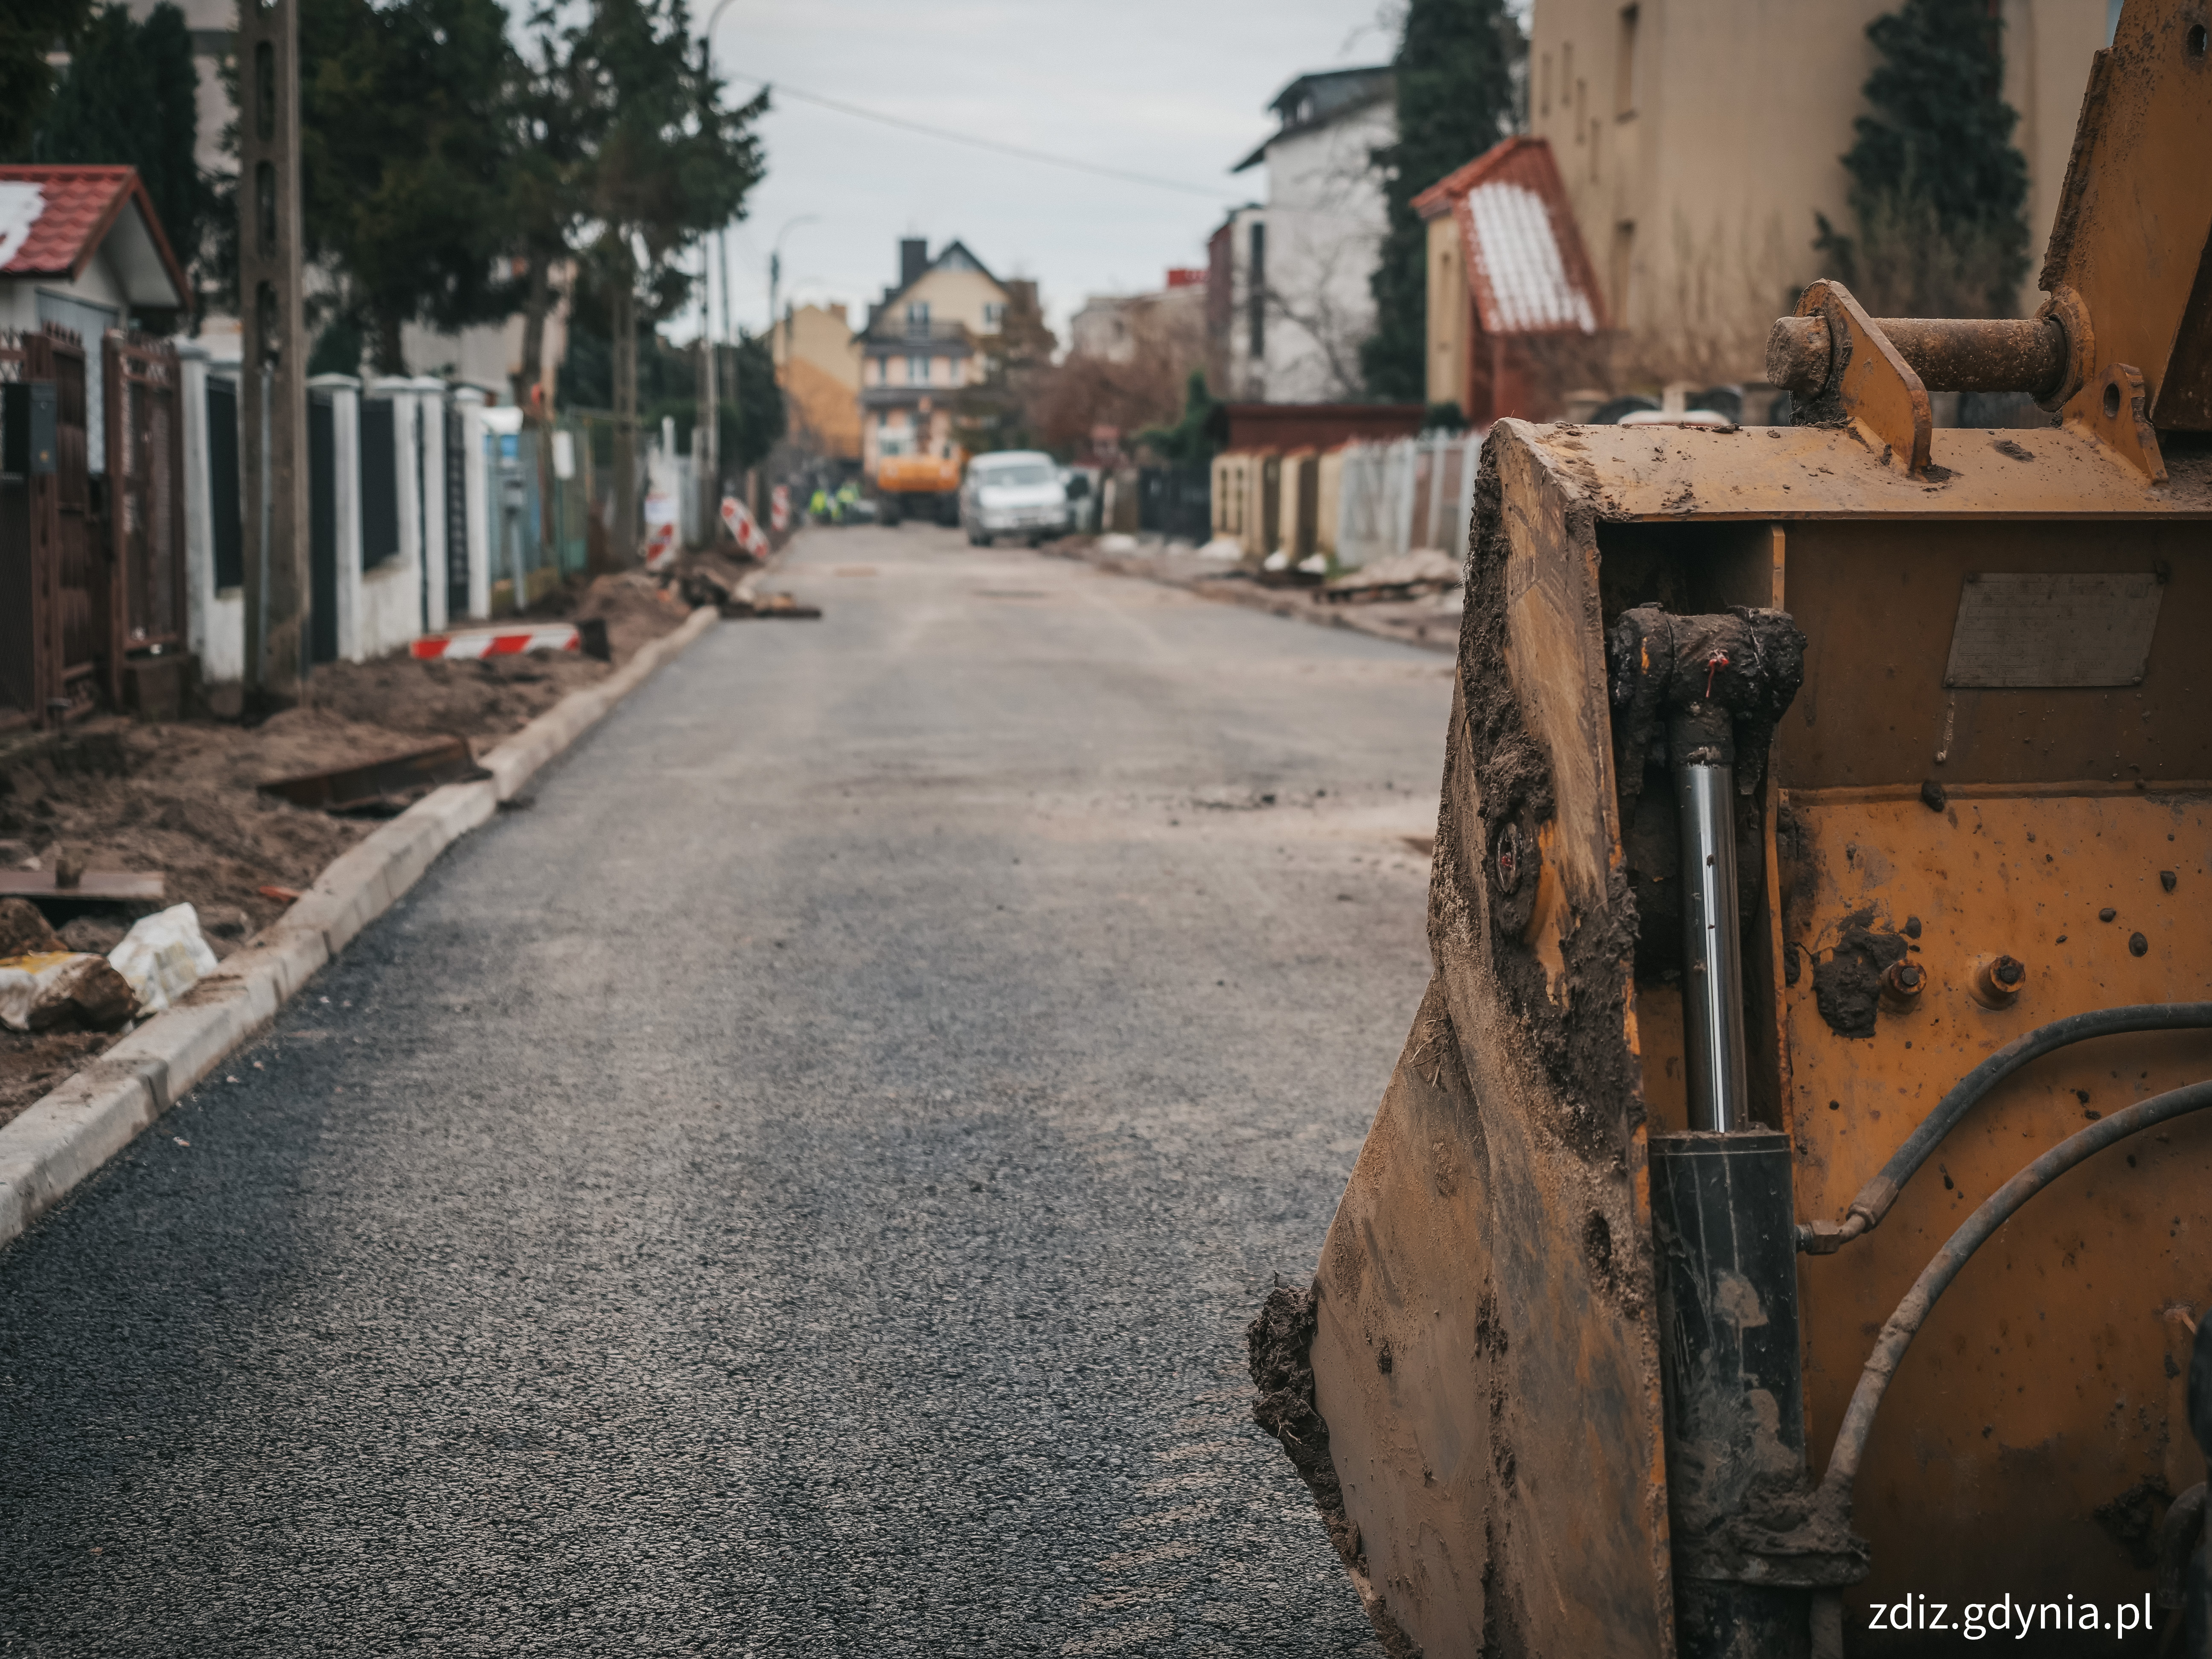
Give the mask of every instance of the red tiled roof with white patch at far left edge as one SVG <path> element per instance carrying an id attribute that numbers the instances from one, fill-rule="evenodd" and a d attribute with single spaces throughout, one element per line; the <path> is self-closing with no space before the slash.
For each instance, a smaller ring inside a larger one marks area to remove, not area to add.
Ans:
<path id="1" fill-rule="evenodd" d="M 0 166 L 0 276 L 77 281 L 102 248 L 133 305 L 190 305 L 137 168 Z"/>

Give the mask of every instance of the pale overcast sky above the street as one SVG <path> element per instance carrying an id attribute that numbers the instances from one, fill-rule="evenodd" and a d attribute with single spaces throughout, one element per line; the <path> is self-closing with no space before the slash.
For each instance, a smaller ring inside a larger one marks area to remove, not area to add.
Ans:
<path id="1" fill-rule="evenodd" d="M 697 0 L 695 0 L 697 4 Z M 710 4 L 697 4 L 703 27 Z M 1190 186 L 1093 177 L 907 133 L 794 97 L 761 124 L 768 179 L 730 230 L 734 321 L 768 319 L 768 254 L 783 232 L 783 296 L 845 301 L 865 321 L 898 270 L 898 239 L 936 254 L 958 237 L 1000 276 L 1035 276 L 1062 330 L 1086 294 L 1159 288 L 1206 263 L 1225 208 L 1265 195 L 1232 175 L 1274 126 L 1285 82 L 1387 62 L 1378 0 L 730 0 L 714 66 L 794 93 Z M 814 215 L 814 223 L 785 226 Z M 690 334 L 684 321 L 670 334 Z"/>

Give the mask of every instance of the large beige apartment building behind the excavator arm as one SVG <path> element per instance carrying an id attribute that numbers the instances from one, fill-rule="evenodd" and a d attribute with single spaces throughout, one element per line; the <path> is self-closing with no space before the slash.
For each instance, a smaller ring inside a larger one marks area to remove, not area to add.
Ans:
<path id="1" fill-rule="evenodd" d="M 1528 126 L 1551 139 L 1621 330 L 1621 380 L 1756 380 L 1767 330 L 1849 230 L 1843 153 L 1896 0 L 1535 0 Z M 2115 0 L 2000 0 L 2035 268 Z"/>

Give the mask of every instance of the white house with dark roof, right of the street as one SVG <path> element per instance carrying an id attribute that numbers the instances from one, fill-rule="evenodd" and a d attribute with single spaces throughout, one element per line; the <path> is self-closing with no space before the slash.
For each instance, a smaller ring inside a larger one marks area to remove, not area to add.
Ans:
<path id="1" fill-rule="evenodd" d="M 1365 392 L 1374 332 L 1367 279 L 1387 230 L 1374 150 L 1398 137 L 1387 66 L 1298 75 L 1270 108 L 1276 131 L 1232 170 L 1267 166 L 1267 199 L 1208 241 L 1208 303 L 1221 394 L 1334 403 Z"/>

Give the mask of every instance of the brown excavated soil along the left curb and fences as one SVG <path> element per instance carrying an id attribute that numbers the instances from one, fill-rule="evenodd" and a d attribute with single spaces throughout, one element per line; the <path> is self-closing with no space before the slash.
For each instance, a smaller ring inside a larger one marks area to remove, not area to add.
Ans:
<path id="1" fill-rule="evenodd" d="M 688 613 L 650 577 L 624 573 L 566 593 L 564 615 L 604 617 L 622 664 Z M 161 872 L 166 902 L 190 902 L 223 958 L 292 902 L 261 887 L 305 891 L 376 827 L 374 818 L 312 812 L 254 785 L 449 734 L 482 754 L 611 672 L 611 664 L 566 653 L 453 664 L 383 657 L 316 668 L 296 708 L 257 726 L 104 714 L 18 739 L 0 750 L 0 867 L 51 869 L 66 847 L 86 869 Z M 106 951 L 131 920 L 131 909 L 97 911 L 60 931 L 73 949 Z M 0 1124 L 111 1042 L 115 1033 L 0 1031 Z"/>

